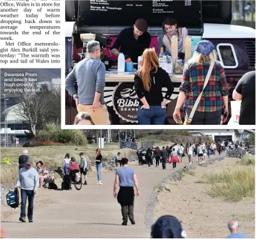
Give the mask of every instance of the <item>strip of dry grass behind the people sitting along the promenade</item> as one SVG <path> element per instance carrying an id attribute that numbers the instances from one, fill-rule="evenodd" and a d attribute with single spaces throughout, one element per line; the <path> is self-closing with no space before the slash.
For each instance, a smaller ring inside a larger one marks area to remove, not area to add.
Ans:
<path id="1" fill-rule="evenodd" d="M 1 184 L 15 183 L 18 178 L 19 170 L 19 155 L 22 154 L 22 147 L 18 148 L 2 148 L 1 149 Z M 88 144 L 85 146 L 76 145 L 51 145 L 51 146 L 39 146 L 29 147 L 28 155 L 33 159 L 34 164 L 39 160 L 42 160 L 48 170 L 55 170 L 58 167 L 62 167 L 62 160 L 64 156 L 69 153 L 71 157 L 74 157 L 79 162 L 79 153 L 83 152 L 88 159 L 88 163 L 95 160 L 95 150 L 98 149 L 97 144 Z M 105 145 L 105 148 L 101 150 L 103 160 L 108 157 L 113 157 L 117 152 L 121 152 L 122 157 L 131 157 L 136 155 L 136 150 L 125 149 L 122 150 L 118 147 L 118 144 Z M 3 159 L 9 157 L 11 164 L 3 163 Z"/>

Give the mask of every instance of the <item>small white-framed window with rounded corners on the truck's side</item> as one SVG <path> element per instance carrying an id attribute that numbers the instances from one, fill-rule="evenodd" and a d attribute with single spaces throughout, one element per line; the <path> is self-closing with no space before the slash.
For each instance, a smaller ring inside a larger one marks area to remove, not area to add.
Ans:
<path id="1" fill-rule="evenodd" d="M 224 68 L 237 68 L 238 61 L 232 44 L 221 43 L 217 45 L 218 57 Z"/>

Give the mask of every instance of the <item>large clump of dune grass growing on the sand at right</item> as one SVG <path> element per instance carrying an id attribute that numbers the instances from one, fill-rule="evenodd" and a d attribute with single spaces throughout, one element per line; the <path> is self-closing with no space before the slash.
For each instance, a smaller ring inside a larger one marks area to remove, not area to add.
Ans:
<path id="1" fill-rule="evenodd" d="M 255 197 L 255 167 L 237 166 L 223 172 L 208 173 L 203 182 L 210 183 L 206 191 L 210 197 L 224 197 L 239 202 L 245 197 Z"/>

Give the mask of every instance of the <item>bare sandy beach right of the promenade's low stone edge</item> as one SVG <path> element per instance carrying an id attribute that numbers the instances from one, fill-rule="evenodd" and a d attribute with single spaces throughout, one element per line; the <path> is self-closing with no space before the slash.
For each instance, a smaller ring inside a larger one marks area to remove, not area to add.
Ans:
<path id="1" fill-rule="evenodd" d="M 177 217 L 188 238 L 225 238 L 229 234 L 228 221 L 237 219 L 240 231 L 255 238 L 255 198 L 245 198 L 241 202 L 212 198 L 205 193 L 210 185 L 198 183 L 205 173 L 223 171 L 236 162 L 237 159 L 227 158 L 208 167 L 197 167 L 195 175 L 185 175 L 181 181 L 166 184 L 170 192 L 160 192 L 155 218 Z"/>

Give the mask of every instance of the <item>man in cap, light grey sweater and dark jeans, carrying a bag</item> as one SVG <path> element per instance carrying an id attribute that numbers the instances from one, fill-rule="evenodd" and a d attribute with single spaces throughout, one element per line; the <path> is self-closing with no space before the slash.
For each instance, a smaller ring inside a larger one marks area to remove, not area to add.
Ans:
<path id="1" fill-rule="evenodd" d="M 28 221 L 33 222 L 34 195 L 38 190 L 39 177 L 38 171 L 33 168 L 33 160 L 26 162 L 26 167 L 19 170 L 18 182 L 16 187 L 21 187 L 21 217 L 20 222 L 26 222 L 26 201 L 28 198 Z"/>

